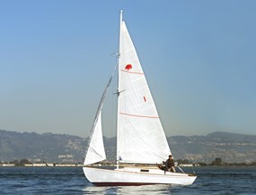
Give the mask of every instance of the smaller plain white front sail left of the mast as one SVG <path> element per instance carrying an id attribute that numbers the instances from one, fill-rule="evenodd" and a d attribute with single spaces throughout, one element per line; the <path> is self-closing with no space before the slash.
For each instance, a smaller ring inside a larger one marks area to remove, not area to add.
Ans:
<path id="1" fill-rule="evenodd" d="M 112 77 L 110 78 L 110 81 L 108 82 L 107 87 L 105 88 L 102 94 L 102 99 L 94 119 L 87 152 L 84 159 L 84 165 L 90 165 L 106 159 L 105 148 L 103 144 L 103 136 L 102 136 L 102 106 L 103 106 L 107 91 L 110 87 L 111 80 L 112 80 Z"/>

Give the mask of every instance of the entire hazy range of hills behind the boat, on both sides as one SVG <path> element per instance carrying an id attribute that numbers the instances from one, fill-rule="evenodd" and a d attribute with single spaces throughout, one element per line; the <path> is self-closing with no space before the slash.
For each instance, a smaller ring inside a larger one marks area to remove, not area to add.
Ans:
<path id="1" fill-rule="evenodd" d="M 167 138 L 176 159 L 210 163 L 220 157 L 228 163 L 256 161 L 256 136 L 216 131 L 207 136 Z M 104 138 L 107 157 L 116 158 L 116 139 Z M 87 139 L 66 135 L 0 130 L 0 162 L 27 158 L 32 162 L 83 163 Z"/>

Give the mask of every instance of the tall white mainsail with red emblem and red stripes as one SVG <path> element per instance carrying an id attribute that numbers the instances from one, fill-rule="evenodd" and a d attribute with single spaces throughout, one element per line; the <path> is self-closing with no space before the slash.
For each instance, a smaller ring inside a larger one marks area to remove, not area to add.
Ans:
<path id="1" fill-rule="evenodd" d="M 162 163 L 171 154 L 146 77 L 124 21 L 119 40 L 119 160 Z"/>

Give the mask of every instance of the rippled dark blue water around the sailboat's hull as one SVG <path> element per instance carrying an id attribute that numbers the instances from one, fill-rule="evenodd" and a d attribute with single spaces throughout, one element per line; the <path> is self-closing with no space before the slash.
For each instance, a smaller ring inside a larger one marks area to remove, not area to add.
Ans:
<path id="1" fill-rule="evenodd" d="M 95 187 L 81 167 L 0 167 L 0 194 L 256 194 L 256 167 L 194 171 L 199 177 L 190 186 Z"/>

